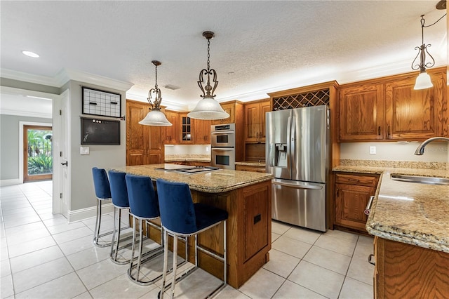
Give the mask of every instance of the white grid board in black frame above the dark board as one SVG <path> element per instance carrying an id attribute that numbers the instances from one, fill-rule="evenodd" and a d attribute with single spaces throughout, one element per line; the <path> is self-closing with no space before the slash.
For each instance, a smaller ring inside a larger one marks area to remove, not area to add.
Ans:
<path id="1" fill-rule="evenodd" d="M 100 91 L 94 88 L 83 88 L 83 114 L 103 117 L 121 117 L 121 94 Z"/>

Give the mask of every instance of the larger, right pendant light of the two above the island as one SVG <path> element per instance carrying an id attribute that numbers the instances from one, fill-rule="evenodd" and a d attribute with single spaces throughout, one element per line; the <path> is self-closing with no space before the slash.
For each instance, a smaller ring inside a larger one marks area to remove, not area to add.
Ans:
<path id="1" fill-rule="evenodd" d="M 195 109 L 192 110 L 187 117 L 191 119 L 227 119 L 229 114 L 223 110 L 220 103 L 217 102 L 213 94 L 215 88 L 217 88 L 217 72 L 215 69 L 210 69 L 210 39 L 213 38 L 214 33 L 210 31 L 203 32 L 203 36 L 208 40 L 208 68 L 201 69 L 199 72 L 199 81 L 198 86 L 203 91 L 203 95 L 201 96 L 201 100 L 196 104 Z M 204 76 L 207 75 L 206 86 L 203 87 L 204 84 Z M 213 78 L 213 86 L 210 86 L 210 76 Z"/>

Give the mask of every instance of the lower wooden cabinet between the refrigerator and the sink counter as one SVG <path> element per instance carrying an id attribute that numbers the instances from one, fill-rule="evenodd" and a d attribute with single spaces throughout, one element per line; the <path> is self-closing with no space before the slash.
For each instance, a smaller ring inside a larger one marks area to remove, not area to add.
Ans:
<path id="1" fill-rule="evenodd" d="M 375 194 L 379 175 L 335 173 L 335 224 L 358 232 L 366 232 L 368 216 L 363 213 Z"/>

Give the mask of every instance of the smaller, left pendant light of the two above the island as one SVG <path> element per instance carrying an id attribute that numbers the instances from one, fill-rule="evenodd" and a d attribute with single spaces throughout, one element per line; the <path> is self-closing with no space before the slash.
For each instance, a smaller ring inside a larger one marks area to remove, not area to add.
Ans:
<path id="1" fill-rule="evenodd" d="M 139 121 L 139 124 L 145 126 L 173 126 L 173 124 L 168 121 L 167 117 L 163 112 L 161 112 L 161 90 L 157 87 L 157 66 L 161 65 L 161 62 L 153 60 L 152 64 L 156 67 L 156 84 L 154 88 L 148 91 L 148 102 L 151 108 L 147 113 L 145 119 Z M 152 93 L 154 93 L 154 101 L 152 102 Z"/>

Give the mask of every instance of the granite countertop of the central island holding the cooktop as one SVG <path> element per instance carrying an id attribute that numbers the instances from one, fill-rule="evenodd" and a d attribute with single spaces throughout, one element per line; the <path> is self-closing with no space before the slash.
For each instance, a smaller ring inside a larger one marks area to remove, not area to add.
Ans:
<path id="1" fill-rule="evenodd" d="M 207 193 L 227 192 L 241 187 L 253 185 L 257 182 L 272 180 L 269 173 L 252 173 L 247 171 L 230 171 L 220 169 L 208 173 L 184 174 L 164 171 L 156 168 L 173 168 L 173 164 L 151 164 L 139 166 L 112 167 L 115 171 L 123 171 L 135 175 L 146 175 L 156 180 L 162 178 L 171 182 L 185 182 L 192 190 Z M 176 165 L 179 166 L 179 165 Z"/>

